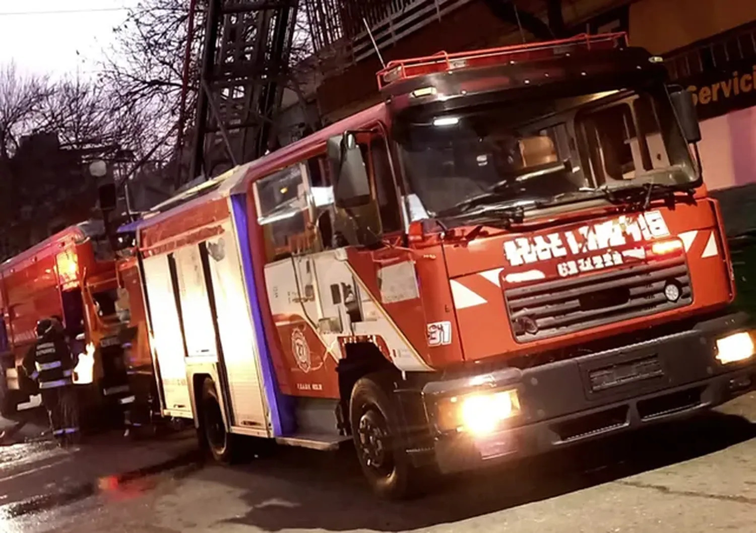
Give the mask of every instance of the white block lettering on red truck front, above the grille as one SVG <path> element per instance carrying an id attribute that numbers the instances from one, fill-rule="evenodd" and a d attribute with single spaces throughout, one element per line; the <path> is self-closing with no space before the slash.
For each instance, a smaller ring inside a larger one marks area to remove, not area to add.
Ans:
<path id="1" fill-rule="evenodd" d="M 541 262 L 560 260 L 556 270 L 567 277 L 643 259 L 646 241 L 668 235 L 662 213 L 649 211 L 568 230 L 516 237 L 504 242 L 503 252 L 512 267 L 537 267 Z"/>

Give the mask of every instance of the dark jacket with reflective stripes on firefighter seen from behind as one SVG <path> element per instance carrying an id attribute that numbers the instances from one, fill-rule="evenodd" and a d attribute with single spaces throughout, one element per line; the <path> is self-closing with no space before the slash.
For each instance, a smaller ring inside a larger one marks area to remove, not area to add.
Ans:
<path id="1" fill-rule="evenodd" d="M 23 359 L 26 374 L 39 383 L 40 391 L 71 385 L 74 366 L 65 337 L 55 330 L 39 337 Z"/>

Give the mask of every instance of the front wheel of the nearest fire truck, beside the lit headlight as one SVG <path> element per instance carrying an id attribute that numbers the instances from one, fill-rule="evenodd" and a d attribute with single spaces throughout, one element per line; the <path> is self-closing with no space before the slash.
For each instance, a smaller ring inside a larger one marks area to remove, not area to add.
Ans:
<path id="1" fill-rule="evenodd" d="M 427 488 L 429 472 L 415 467 L 399 440 L 397 407 L 375 376 L 363 377 L 352 389 L 349 420 L 352 439 L 370 487 L 380 497 L 401 500 Z"/>

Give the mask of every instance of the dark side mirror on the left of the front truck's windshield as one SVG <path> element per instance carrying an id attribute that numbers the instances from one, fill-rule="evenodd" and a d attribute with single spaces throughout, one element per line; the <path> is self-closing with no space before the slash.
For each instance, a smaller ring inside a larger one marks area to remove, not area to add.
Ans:
<path id="1" fill-rule="evenodd" d="M 370 203 L 370 180 L 355 134 L 345 132 L 327 142 L 333 169 L 333 200 L 337 207 L 358 207 Z"/>

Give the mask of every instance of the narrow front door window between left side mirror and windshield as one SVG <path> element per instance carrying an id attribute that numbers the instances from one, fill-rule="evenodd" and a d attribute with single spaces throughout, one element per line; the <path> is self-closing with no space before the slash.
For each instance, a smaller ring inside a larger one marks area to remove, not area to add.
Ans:
<path id="1" fill-rule="evenodd" d="M 399 212 L 386 140 L 381 136 L 373 137 L 369 144 L 360 144 L 360 150 L 367 164 L 368 172 L 370 172 L 370 177 L 375 184 L 376 200 L 378 200 L 383 231 L 387 233 L 399 231 L 402 228 L 401 213 Z"/>

